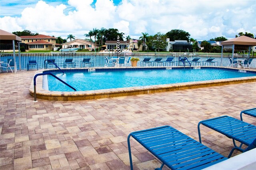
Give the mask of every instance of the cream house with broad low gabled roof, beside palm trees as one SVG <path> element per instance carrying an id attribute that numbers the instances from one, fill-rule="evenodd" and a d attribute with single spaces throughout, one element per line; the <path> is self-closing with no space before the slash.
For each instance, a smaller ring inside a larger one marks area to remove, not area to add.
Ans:
<path id="1" fill-rule="evenodd" d="M 62 48 L 67 48 L 70 45 L 72 45 L 72 47 L 74 48 L 79 48 L 79 49 L 89 49 L 89 51 L 91 51 L 92 49 L 94 50 L 95 48 L 98 48 L 99 45 L 92 42 L 92 47 L 91 47 L 91 42 L 87 41 L 87 40 L 82 40 L 82 39 L 76 39 L 76 40 L 72 40 L 70 42 L 66 42 L 61 44 Z"/>

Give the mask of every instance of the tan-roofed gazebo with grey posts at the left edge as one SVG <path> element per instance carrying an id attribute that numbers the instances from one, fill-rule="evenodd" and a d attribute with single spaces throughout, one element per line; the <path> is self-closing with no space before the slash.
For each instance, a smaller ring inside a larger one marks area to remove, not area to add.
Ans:
<path id="1" fill-rule="evenodd" d="M 21 38 L 16 36 L 15 34 L 10 33 L 10 32 L 4 31 L 4 30 L 0 30 L 0 41 L 1 41 L 1 43 L 11 43 L 12 42 L 13 57 L 14 57 L 14 73 L 17 72 L 17 68 L 16 68 L 16 55 L 15 55 L 15 41 L 18 42 L 19 65 L 20 65 L 20 70 L 21 70 L 21 63 L 20 63 L 20 42 L 21 42 Z"/>

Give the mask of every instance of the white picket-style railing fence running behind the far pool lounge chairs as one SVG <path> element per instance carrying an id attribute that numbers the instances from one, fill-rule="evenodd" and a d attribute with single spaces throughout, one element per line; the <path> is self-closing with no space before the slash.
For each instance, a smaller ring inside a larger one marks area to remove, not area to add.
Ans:
<path id="1" fill-rule="evenodd" d="M 90 61 L 93 63 L 93 67 L 104 67 L 105 59 L 107 56 L 109 59 L 112 56 L 116 56 L 114 52 L 71 52 L 71 53 L 61 53 L 61 52 L 52 52 L 52 53 L 20 53 L 21 58 L 21 69 L 27 69 L 28 60 L 36 60 L 38 63 L 38 67 L 40 69 L 45 68 L 45 60 L 47 59 L 55 59 L 55 63 L 58 67 L 64 67 L 64 61 L 67 58 L 72 58 L 75 63 L 75 67 L 81 67 L 81 61 L 83 58 L 90 58 Z M 187 57 L 189 61 L 194 58 L 200 58 L 199 61 L 206 61 L 209 58 L 214 58 L 213 61 L 218 61 L 218 66 L 221 65 L 221 53 L 121 53 L 120 56 L 125 57 L 137 57 L 142 61 L 145 57 L 150 57 L 150 61 L 154 61 L 156 58 L 162 58 L 162 61 L 165 61 L 168 57 L 174 57 L 173 61 L 178 61 L 179 57 Z M 228 66 L 230 63 L 229 57 L 232 54 L 223 54 L 222 65 L 224 67 Z M 237 58 L 247 58 L 248 55 L 236 55 Z M 7 62 L 7 59 L 13 58 L 12 53 L 2 53 L 0 57 L 0 61 Z M 19 57 L 18 53 L 16 53 L 16 65 L 17 69 L 20 68 L 19 65 Z M 52 65 L 54 67 L 54 65 Z M 256 67 L 256 59 L 252 61 L 252 67 Z"/>

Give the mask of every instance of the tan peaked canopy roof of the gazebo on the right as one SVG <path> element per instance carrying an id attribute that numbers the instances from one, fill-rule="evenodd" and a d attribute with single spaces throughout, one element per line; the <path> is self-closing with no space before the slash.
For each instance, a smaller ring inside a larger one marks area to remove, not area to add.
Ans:
<path id="1" fill-rule="evenodd" d="M 247 36 L 240 36 L 220 43 L 221 45 L 256 45 L 256 39 Z"/>

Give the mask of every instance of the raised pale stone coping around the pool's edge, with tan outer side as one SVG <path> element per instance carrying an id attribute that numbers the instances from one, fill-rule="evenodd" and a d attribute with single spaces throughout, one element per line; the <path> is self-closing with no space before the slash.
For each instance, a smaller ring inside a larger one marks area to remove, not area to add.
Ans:
<path id="1" fill-rule="evenodd" d="M 111 70 L 128 70 L 128 69 L 180 69 L 183 67 L 93 67 L 93 68 L 79 68 L 79 70 L 88 69 L 111 69 Z M 189 69 L 190 67 L 185 67 Z M 199 69 L 197 66 L 191 67 L 192 69 Z M 211 68 L 211 69 L 228 69 L 234 71 L 249 71 L 256 72 L 251 69 L 237 69 L 229 67 L 209 67 L 209 66 L 200 66 L 201 68 Z M 67 69 L 64 69 L 67 71 Z M 68 69 L 68 71 L 78 70 L 78 68 Z M 35 75 L 43 72 L 56 71 L 56 69 L 40 70 L 36 71 Z M 164 84 L 164 85 L 148 85 L 148 86 L 138 86 L 138 87 L 124 87 L 116 89 L 102 89 L 102 90 L 91 90 L 91 91 L 48 91 L 42 88 L 43 85 L 43 76 L 38 76 L 36 79 L 36 98 L 44 100 L 53 100 L 53 101 L 76 101 L 76 100 L 88 100 L 88 99 L 101 99 L 108 97 L 120 97 L 128 95 L 142 95 L 148 93 L 160 93 L 166 91 L 174 90 L 184 90 L 184 89 L 194 89 L 200 87 L 211 87 L 211 86 L 220 86 L 220 85 L 229 85 L 237 83 L 246 83 L 256 81 L 256 76 L 252 77 L 239 77 L 239 78 L 230 78 L 230 79 L 218 79 L 218 80 L 207 80 L 207 81 L 192 81 L 186 83 L 173 83 L 173 84 Z M 34 81 L 31 82 L 29 88 L 30 95 L 34 97 Z"/>

